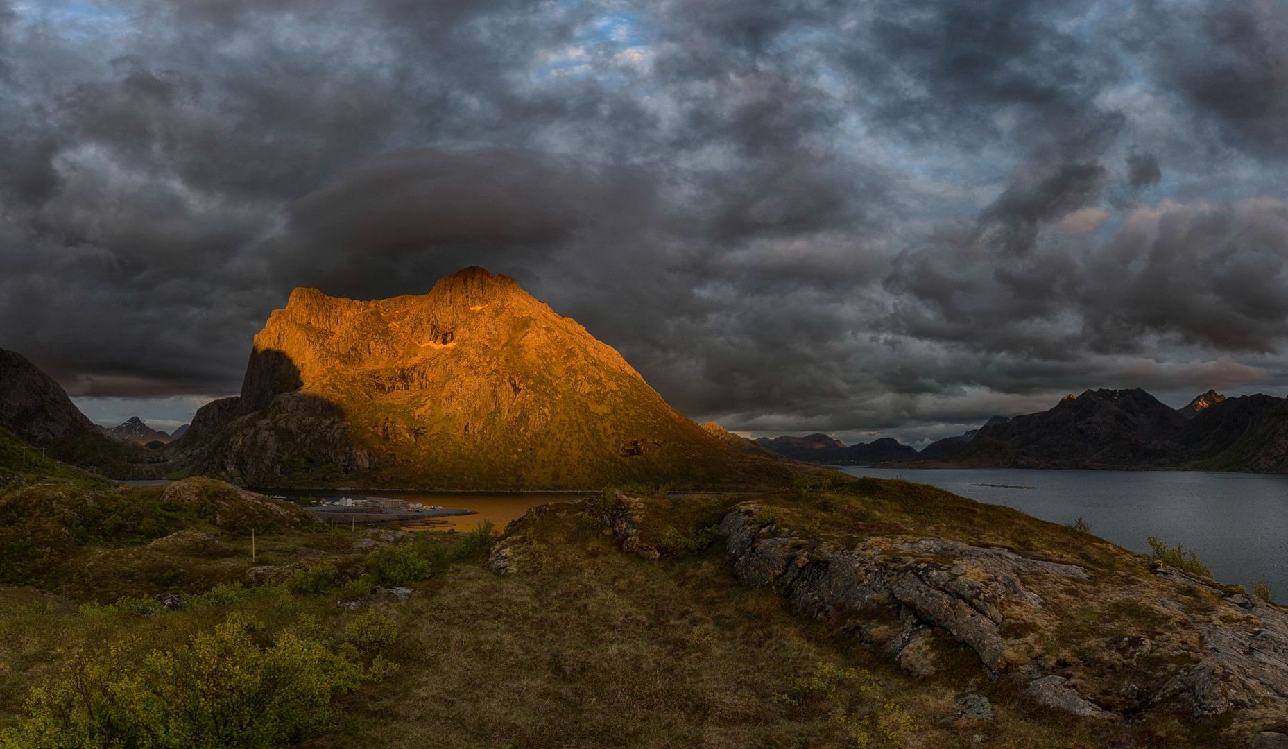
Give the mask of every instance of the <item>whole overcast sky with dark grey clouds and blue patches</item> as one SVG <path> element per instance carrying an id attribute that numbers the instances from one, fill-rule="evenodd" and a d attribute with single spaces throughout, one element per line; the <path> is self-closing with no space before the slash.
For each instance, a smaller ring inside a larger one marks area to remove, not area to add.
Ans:
<path id="1" fill-rule="evenodd" d="M 1285 395 L 1285 260 L 1284 0 L 0 0 L 0 346 L 100 423 L 466 265 L 753 435 Z"/>

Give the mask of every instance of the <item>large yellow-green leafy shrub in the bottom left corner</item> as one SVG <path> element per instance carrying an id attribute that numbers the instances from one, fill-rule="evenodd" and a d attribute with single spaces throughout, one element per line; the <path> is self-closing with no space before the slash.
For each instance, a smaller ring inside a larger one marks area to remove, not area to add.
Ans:
<path id="1" fill-rule="evenodd" d="M 35 687 L 28 717 L 0 734 L 13 749 L 268 748 L 331 727 L 335 696 L 375 677 L 316 640 L 282 633 L 259 645 L 251 619 L 233 614 L 187 646 L 135 656 L 137 641 L 79 654 Z"/>

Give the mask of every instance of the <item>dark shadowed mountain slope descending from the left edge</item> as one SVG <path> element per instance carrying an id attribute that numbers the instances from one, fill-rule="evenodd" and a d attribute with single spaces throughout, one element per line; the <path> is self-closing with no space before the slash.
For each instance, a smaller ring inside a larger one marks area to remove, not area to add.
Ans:
<path id="1" fill-rule="evenodd" d="M 50 457 L 117 479 L 151 477 L 156 468 L 137 445 L 109 439 L 67 398 L 53 377 L 15 351 L 0 349 L 0 426 Z"/>

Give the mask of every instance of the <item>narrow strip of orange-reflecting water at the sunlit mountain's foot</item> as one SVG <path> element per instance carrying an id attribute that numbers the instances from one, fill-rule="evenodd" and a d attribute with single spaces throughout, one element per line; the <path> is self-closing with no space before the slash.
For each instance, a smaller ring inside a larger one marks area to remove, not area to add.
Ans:
<path id="1" fill-rule="evenodd" d="M 478 528 L 479 524 L 491 520 L 497 530 L 504 530 L 505 524 L 515 517 L 522 517 L 529 507 L 537 504 L 550 504 L 551 502 L 574 502 L 590 494 L 572 493 L 523 493 L 523 494 L 483 494 L 483 493 L 439 493 L 439 492 L 357 492 L 344 493 L 337 489 L 274 489 L 267 494 L 286 497 L 296 502 L 312 502 L 322 497 L 393 497 L 407 502 L 420 502 L 422 504 L 440 504 L 452 510 L 473 510 L 473 515 L 452 515 L 447 517 L 434 517 L 428 522 L 404 522 L 401 528 L 407 530 L 457 530 L 466 532 Z"/>

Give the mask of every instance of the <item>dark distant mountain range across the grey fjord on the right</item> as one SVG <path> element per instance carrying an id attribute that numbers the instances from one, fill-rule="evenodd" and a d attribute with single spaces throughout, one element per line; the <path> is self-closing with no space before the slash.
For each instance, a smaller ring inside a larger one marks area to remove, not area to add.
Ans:
<path id="1" fill-rule="evenodd" d="M 792 459 L 832 465 L 1288 472 L 1288 402 L 1209 390 L 1184 408 L 1171 408 L 1140 389 L 1087 390 L 1039 413 L 994 416 L 921 452 L 889 438 L 848 448 L 824 445 L 824 439 L 836 443 L 827 435 L 756 443 Z M 878 443 L 885 444 L 875 450 Z"/>

